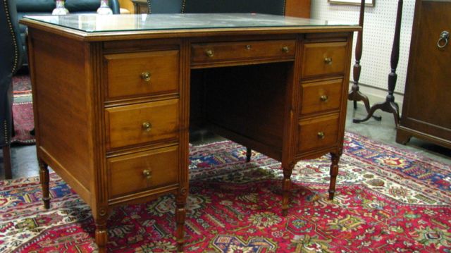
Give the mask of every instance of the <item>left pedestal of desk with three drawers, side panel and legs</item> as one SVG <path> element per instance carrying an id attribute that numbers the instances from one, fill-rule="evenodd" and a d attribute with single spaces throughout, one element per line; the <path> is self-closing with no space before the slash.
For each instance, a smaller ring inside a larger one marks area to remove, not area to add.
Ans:
<path id="1" fill-rule="evenodd" d="M 29 48 L 46 206 L 48 165 L 91 206 L 104 252 L 109 210 L 174 194 L 182 249 L 189 123 L 182 42 L 88 42 L 30 28 Z"/>

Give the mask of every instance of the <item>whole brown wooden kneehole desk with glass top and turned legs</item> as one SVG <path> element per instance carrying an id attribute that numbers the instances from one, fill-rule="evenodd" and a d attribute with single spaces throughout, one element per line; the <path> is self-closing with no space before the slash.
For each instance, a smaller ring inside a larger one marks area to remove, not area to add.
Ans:
<path id="1" fill-rule="evenodd" d="M 333 198 L 358 26 L 250 14 L 21 23 L 29 30 L 44 205 L 48 165 L 92 207 L 100 251 L 109 210 L 170 193 L 183 247 L 190 113 L 282 162 L 283 214 L 301 159 L 332 155 Z"/>

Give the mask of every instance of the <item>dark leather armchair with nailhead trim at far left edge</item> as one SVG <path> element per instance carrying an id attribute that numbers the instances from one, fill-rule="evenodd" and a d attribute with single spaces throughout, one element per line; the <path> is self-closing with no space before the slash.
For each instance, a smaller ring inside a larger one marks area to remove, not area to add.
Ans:
<path id="1" fill-rule="evenodd" d="M 3 149 L 5 178 L 11 178 L 11 132 L 13 128 L 13 86 L 11 79 L 22 64 L 22 42 L 16 1 L 1 1 L 0 7 L 0 147 Z"/>

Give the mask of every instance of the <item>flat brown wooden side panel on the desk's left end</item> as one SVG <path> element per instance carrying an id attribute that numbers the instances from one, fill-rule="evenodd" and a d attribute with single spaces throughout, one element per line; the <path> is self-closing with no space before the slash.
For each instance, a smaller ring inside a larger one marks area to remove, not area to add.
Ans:
<path id="1" fill-rule="evenodd" d="M 37 154 L 90 202 L 91 118 L 85 44 L 30 30 Z"/>

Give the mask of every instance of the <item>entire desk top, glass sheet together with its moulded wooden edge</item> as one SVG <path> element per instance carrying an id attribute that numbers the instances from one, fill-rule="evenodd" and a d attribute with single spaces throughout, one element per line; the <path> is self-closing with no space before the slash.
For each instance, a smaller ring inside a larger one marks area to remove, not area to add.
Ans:
<path id="1" fill-rule="evenodd" d="M 218 30 L 359 30 L 354 23 L 314 20 L 259 13 L 185 13 L 185 14 L 133 14 L 99 16 L 95 14 L 66 16 L 25 16 L 20 23 L 31 27 L 47 27 L 81 37 L 130 33 L 205 33 Z M 186 36 L 182 36 L 186 37 Z"/>

